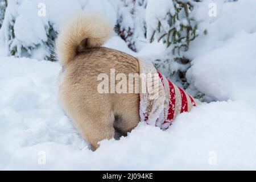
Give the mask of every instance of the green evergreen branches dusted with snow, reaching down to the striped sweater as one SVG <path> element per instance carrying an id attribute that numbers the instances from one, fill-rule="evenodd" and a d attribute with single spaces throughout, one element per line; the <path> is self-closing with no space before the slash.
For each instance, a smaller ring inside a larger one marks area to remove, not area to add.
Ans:
<path id="1" fill-rule="evenodd" d="M 158 19 L 158 26 L 152 31 L 150 42 L 163 41 L 167 47 L 167 56 L 152 61 L 156 69 L 164 73 L 175 84 L 187 89 L 189 82 L 186 78 L 188 68 L 191 67 L 191 60 L 184 56 L 189 45 L 199 34 L 207 35 L 208 31 L 200 32 L 194 18 L 195 7 L 199 0 L 170 0 L 173 8 L 167 12 L 163 19 Z M 203 99 L 200 92 L 194 97 Z"/>

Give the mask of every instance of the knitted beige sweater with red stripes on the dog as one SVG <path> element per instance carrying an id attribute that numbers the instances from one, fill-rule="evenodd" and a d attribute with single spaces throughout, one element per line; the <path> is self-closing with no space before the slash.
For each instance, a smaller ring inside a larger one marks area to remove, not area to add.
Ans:
<path id="1" fill-rule="evenodd" d="M 138 58 L 141 76 L 139 115 L 141 121 L 168 129 L 177 114 L 200 104 L 179 86 L 156 71 L 149 61 Z M 148 89 L 148 85 L 149 87 Z M 146 88 L 144 88 L 146 86 Z M 153 91 L 153 92 L 150 92 Z"/>

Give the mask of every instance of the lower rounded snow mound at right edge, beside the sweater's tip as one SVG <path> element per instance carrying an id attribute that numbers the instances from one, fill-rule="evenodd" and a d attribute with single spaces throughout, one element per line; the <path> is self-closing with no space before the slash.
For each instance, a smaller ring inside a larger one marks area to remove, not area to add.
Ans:
<path id="1" fill-rule="evenodd" d="M 255 47 L 256 33 L 241 32 L 222 47 L 196 57 L 187 77 L 214 100 L 255 99 Z"/>

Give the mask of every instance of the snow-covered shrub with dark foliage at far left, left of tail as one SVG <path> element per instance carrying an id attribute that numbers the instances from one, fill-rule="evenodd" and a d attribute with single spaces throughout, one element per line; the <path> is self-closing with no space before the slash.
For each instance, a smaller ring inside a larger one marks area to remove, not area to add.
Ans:
<path id="1" fill-rule="evenodd" d="M 35 1 L 8 1 L 1 34 L 10 55 L 53 60 L 56 31 L 47 18 L 38 15 L 38 10 Z"/>

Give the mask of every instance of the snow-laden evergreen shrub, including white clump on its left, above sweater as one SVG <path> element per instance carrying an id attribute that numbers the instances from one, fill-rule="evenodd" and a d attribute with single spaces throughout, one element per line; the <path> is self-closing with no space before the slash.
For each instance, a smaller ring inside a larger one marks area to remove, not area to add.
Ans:
<path id="1" fill-rule="evenodd" d="M 172 80 L 183 88 L 188 87 L 185 77 L 190 61 L 184 56 L 189 44 L 199 35 L 193 10 L 197 0 L 148 0 L 146 9 L 147 39 L 162 41 L 167 47 L 167 57 L 154 61 L 158 69 L 167 69 Z M 207 34 L 207 31 L 204 31 Z"/>

